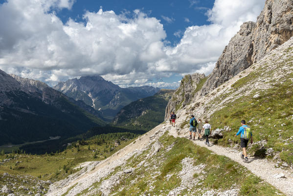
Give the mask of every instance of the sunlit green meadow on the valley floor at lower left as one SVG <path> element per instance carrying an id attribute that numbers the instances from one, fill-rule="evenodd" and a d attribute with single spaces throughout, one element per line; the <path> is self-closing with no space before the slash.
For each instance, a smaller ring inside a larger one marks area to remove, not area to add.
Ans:
<path id="1" fill-rule="evenodd" d="M 132 139 L 136 136 L 137 134 L 133 133 L 102 134 L 86 141 L 72 143 L 71 147 L 68 147 L 68 149 L 60 153 L 56 152 L 44 155 L 10 153 L 0 155 L 0 161 L 2 162 L 0 165 L 0 174 L 8 172 L 13 175 L 10 178 L 15 181 L 21 181 L 21 176 L 28 176 L 28 182 L 40 179 L 51 181 L 61 180 L 69 174 L 77 172 L 79 169 L 74 168 L 79 163 L 104 160 L 114 152 L 133 142 Z M 117 147 L 114 146 L 115 140 L 120 142 L 120 145 Z M 77 143 L 80 145 L 77 145 Z M 12 160 L 3 162 L 3 159 L 9 158 L 12 158 Z M 7 185 L 4 181 L 0 182 L 0 185 L 4 184 Z M 8 185 L 8 188 L 12 189 L 12 187 L 12 185 Z"/>

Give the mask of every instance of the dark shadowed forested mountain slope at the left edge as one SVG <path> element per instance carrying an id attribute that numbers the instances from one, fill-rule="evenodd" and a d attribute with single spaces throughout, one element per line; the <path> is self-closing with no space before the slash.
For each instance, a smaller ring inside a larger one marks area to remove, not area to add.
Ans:
<path id="1" fill-rule="evenodd" d="M 88 105 L 43 82 L 0 70 L 0 145 L 74 136 L 104 125 L 97 116 Z"/>

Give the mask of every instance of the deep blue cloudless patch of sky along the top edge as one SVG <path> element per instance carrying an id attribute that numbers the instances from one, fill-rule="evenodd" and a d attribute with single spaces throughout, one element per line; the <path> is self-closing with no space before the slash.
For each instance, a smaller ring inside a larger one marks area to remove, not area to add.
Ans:
<path id="1" fill-rule="evenodd" d="M 161 20 L 167 37 L 174 45 L 180 41 L 185 28 L 191 25 L 208 25 L 205 12 L 213 7 L 214 0 L 77 0 L 71 10 L 55 10 L 65 24 L 68 18 L 83 22 L 85 11 L 113 10 L 116 14 L 140 9 L 149 17 Z M 129 14 L 131 17 L 131 14 Z M 177 36 L 174 34 L 177 33 Z"/>

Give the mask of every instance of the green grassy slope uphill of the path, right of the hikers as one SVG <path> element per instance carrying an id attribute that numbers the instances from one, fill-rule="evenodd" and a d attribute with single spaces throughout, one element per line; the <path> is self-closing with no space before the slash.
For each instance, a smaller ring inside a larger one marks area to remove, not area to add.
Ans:
<path id="1" fill-rule="evenodd" d="M 285 54 L 291 52 L 293 49 L 289 48 Z M 265 74 L 262 77 L 270 78 L 270 75 L 282 70 L 284 66 L 290 66 L 292 70 L 292 61 L 292 56 L 285 58 L 278 63 L 278 70 L 270 72 L 267 71 L 270 65 L 254 69 L 252 73 L 239 79 L 231 87 L 237 91 L 243 86 L 249 86 L 261 73 Z M 271 84 L 271 88 L 253 91 L 249 96 L 235 99 L 216 111 L 211 116 L 211 124 L 219 128 L 225 125 L 232 128 L 231 131 L 225 132 L 223 139 L 218 141 L 218 144 L 232 146 L 240 143 L 239 138 L 233 137 L 240 126 L 239 122 L 242 119 L 247 120 L 253 130 L 254 142 L 265 140 L 267 142 L 265 148 L 273 148 L 276 153 L 279 153 L 280 158 L 290 165 L 293 164 L 293 73 L 283 75 L 282 78 L 278 78 L 278 81 L 271 80 L 268 84 Z M 257 93 L 260 96 L 253 98 Z M 222 98 L 226 96 L 228 94 L 222 95 Z M 260 151 L 260 146 L 253 145 L 249 151 L 252 154 L 256 152 L 255 155 L 265 156 L 266 149 Z"/>

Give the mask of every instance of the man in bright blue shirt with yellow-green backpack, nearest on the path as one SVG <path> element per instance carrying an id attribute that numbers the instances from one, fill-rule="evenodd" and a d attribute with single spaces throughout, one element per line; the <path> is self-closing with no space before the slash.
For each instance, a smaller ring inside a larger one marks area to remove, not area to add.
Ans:
<path id="1" fill-rule="evenodd" d="M 252 141 L 252 132 L 250 130 L 250 127 L 246 125 L 245 120 L 241 121 L 241 127 L 239 128 L 239 131 L 235 134 L 235 138 L 239 134 L 240 134 L 240 147 L 242 147 L 242 151 L 243 151 L 243 153 L 241 154 L 241 159 L 244 159 L 243 160 L 244 163 L 249 163 L 246 148 L 247 148 L 249 139 L 250 139 L 250 144 L 252 144 L 253 141 Z"/>

